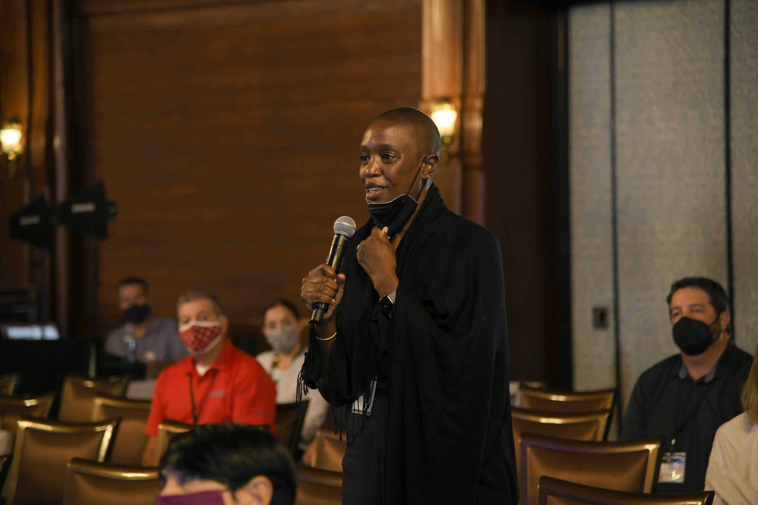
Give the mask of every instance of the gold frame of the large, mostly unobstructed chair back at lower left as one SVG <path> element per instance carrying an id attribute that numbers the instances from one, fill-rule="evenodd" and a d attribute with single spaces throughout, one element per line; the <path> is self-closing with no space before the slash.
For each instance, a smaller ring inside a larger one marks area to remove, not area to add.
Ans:
<path id="1" fill-rule="evenodd" d="M 8 499 L 6 503 L 13 505 L 16 497 L 16 485 L 18 483 L 18 468 L 21 464 L 20 454 L 23 449 L 23 438 L 27 429 L 36 429 L 44 432 L 55 433 L 89 433 L 105 432 L 98 450 L 97 460 L 99 463 L 108 457 L 108 450 L 118 429 L 118 419 L 103 422 L 61 422 L 46 419 L 22 418 L 18 421 L 16 443 L 14 444 L 14 458 L 11 463 L 11 472 L 8 475 Z"/>

